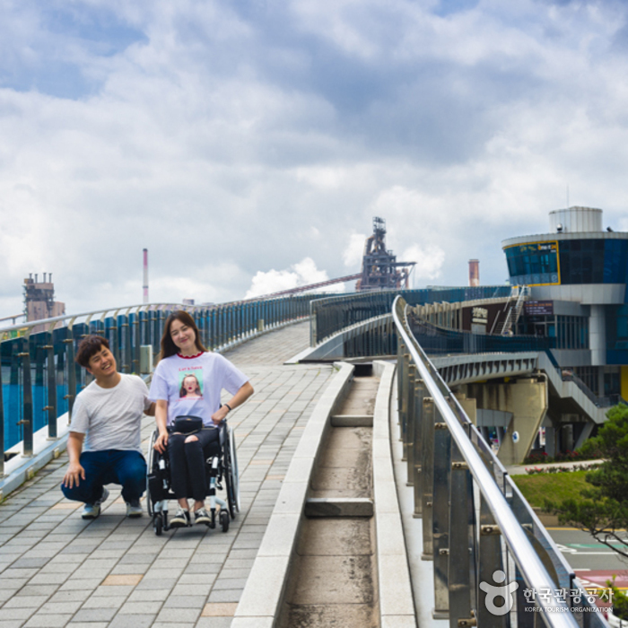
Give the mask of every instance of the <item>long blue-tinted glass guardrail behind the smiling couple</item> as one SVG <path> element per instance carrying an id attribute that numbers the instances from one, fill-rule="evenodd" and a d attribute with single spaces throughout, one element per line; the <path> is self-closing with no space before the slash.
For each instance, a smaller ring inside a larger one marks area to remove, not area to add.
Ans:
<path id="1" fill-rule="evenodd" d="M 74 362 L 83 336 L 107 337 L 118 370 L 139 373 L 141 347 L 159 352 L 163 323 L 173 310 L 189 311 L 204 345 L 220 351 L 263 330 L 307 317 L 311 299 L 311 295 L 294 295 L 211 306 L 132 305 L 0 329 L 0 450 L 4 453 L 0 476 L 11 456 L 5 453 L 7 449 L 22 441 L 20 453 L 32 456 L 33 433 L 46 426 L 48 438 L 57 438 L 57 417 L 72 413 L 76 394 L 91 381 Z M 149 372 L 151 366 L 147 364 L 144 371 Z"/>

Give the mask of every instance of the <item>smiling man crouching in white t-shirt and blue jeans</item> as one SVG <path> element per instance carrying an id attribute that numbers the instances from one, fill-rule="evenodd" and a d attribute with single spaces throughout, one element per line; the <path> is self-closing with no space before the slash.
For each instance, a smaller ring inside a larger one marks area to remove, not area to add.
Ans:
<path id="1" fill-rule="evenodd" d="M 142 415 L 154 416 L 148 388 L 136 375 L 118 373 L 109 342 L 83 338 L 76 362 L 94 381 L 76 396 L 67 440 L 70 463 L 61 490 L 68 500 L 83 502 L 83 519 L 96 519 L 109 497 L 105 484 L 122 484 L 126 517 L 141 517 L 146 462 L 140 448 Z"/>

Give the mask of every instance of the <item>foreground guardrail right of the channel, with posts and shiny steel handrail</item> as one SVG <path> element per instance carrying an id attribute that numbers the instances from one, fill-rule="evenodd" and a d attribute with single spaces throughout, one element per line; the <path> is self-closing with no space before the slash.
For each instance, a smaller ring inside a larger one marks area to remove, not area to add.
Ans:
<path id="1" fill-rule="evenodd" d="M 392 309 L 398 411 L 423 559 L 434 565 L 433 615 L 450 626 L 607 626 L 414 339 L 406 305 L 397 297 Z"/>

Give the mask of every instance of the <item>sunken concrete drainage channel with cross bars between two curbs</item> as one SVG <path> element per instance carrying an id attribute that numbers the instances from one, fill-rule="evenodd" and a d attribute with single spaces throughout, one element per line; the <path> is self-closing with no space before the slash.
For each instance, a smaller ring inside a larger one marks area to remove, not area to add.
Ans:
<path id="1" fill-rule="evenodd" d="M 379 378 L 356 370 L 331 416 L 275 625 L 379 626 L 373 519 L 372 425 Z"/>

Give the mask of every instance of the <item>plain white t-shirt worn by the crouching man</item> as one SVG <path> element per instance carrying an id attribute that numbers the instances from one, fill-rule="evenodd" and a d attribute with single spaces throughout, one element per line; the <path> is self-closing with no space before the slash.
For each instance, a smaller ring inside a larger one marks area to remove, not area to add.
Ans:
<path id="1" fill-rule="evenodd" d="M 141 453 L 140 426 L 151 403 L 148 388 L 137 375 L 120 373 L 113 388 L 102 388 L 94 380 L 76 396 L 70 432 L 85 434 L 83 451 L 135 449 Z"/>

